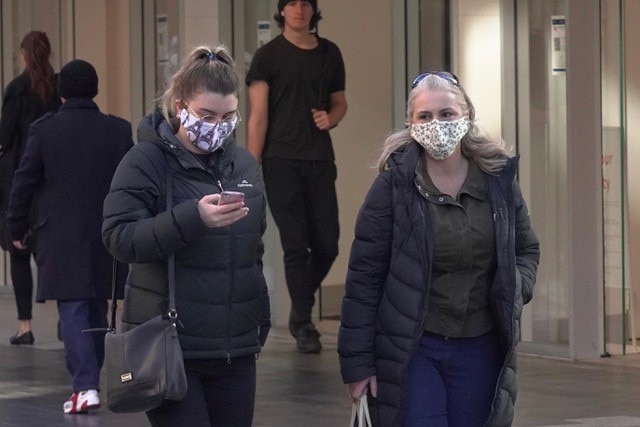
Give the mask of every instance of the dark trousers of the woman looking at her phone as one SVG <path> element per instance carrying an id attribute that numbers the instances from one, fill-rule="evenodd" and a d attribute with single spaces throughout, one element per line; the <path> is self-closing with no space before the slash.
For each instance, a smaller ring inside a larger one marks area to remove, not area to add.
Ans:
<path id="1" fill-rule="evenodd" d="M 251 427 L 256 358 L 185 360 L 187 395 L 147 412 L 154 427 Z"/>

